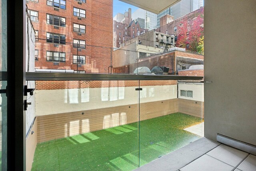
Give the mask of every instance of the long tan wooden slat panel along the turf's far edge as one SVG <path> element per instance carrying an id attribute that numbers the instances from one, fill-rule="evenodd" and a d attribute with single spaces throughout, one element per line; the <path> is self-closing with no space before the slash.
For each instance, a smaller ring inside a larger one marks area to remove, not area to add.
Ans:
<path id="1" fill-rule="evenodd" d="M 141 120 L 175 112 L 178 112 L 178 99 L 140 104 Z M 37 141 L 40 143 L 137 121 L 137 104 L 38 116 Z"/>

